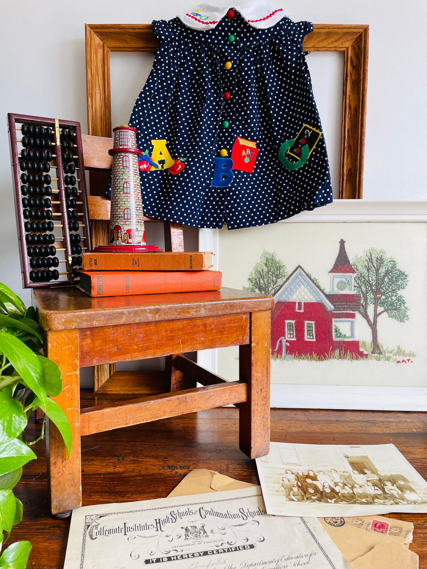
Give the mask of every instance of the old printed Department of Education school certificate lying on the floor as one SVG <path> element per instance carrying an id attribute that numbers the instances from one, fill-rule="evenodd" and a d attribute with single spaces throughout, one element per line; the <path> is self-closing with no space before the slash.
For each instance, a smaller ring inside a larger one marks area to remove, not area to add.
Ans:
<path id="1" fill-rule="evenodd" d="M 315 518 L 270 516 L 260 486 L 73 511 L 64 569 L 351 569 Z"/>

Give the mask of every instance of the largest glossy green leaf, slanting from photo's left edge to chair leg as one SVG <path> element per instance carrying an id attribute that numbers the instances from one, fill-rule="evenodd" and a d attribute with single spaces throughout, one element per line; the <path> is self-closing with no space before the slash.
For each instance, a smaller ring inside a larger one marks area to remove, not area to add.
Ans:
<path id="1" fill-rule="evenodd" d="M 42 362 L 18 338 L 0 332 L 0 351 L 5 354 L 24 382 L 43 403 L 46 402 L 46 380 Z"/>

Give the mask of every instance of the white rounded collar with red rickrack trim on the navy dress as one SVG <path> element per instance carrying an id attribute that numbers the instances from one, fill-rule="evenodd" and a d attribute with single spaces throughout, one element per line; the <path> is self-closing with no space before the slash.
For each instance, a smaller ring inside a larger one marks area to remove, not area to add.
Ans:
<path id="1" fill-rule="evenodd" d="M 199 4 L 187 14 L 178 14 L 178 18 L 193 30 L 211 30 L 221 18 L 224 18 L 232 6 L 212 6 Z M 277 24 L 282 18 L 289 18 L 289 13 L 269 0 L 248 0 L 234 9 L 248 22 L 249 26 L 265 30 Z"/>

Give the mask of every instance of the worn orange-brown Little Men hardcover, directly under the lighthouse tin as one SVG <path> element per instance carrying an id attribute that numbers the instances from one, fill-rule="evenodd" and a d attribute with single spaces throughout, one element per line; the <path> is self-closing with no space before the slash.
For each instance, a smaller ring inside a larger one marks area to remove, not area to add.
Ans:
<path id="1" fill-rule="evenodd" d="M 212 253 L 84 253 L 84 271 L 204 271 L 212 266 Z"/>

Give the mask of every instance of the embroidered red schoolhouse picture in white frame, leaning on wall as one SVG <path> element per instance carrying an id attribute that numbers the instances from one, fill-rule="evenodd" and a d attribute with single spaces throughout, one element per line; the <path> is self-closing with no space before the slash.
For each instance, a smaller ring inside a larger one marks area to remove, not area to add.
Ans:
<path id="1" fill-rule="evenodd" d="M 272 406 L 427 410 L 427 201 L 338 200 L 210 245 L 224 286 L 276 301 Z"/>

